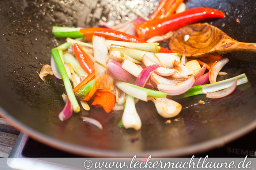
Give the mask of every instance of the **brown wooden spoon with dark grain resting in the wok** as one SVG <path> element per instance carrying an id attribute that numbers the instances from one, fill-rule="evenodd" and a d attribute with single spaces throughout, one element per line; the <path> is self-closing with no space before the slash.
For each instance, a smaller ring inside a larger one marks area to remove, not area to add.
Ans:
<path id="1" fill-rule="evenodd" d="M 187 41 L 186 41 L 187 39 Z M 173 52 L 199 58 L 230 52 L 256 52 L 256 43 L 240 43 L 210 24 L 192 24 L 172 32 L 169 47 Z"/>

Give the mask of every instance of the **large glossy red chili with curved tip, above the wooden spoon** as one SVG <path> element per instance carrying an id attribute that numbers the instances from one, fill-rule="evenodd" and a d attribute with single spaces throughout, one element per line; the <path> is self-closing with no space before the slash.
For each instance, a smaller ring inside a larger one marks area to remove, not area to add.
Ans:
<path id="1" fill-rule="evenodd" d="M 163 19 L 154 19 L 137 24 L 136 32 L 140 39 L 147 40 L 156 35 L 162 35 L 166 32 L 173 31 L 184 25 L 207 18 L 223 18 L 225 14 L 217 9 L 211 8 L 192 8 L 184 12 L 173 14 Z"/>

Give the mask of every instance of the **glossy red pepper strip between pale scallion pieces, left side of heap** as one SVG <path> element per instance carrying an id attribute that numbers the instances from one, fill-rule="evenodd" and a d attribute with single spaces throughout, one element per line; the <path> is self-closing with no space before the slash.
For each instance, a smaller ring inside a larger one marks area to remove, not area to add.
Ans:
<path id="1" fill-rule="evenodd" d="M 90 56 L 87 55 L 86 52 L 84 52 L 82 48 L 76 43 L 74 44 L 74 52 L 76 59 L 78 60 L 83 70 L 86 71 L 87 74 L 91 74 L 91 72 L 94 71 L 94 62 Z"/>

